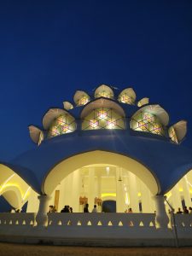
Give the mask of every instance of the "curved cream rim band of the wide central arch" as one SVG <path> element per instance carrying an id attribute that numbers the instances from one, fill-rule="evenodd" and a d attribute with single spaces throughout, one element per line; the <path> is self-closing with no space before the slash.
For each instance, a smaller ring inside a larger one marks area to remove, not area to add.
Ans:
<path id="1" fill-rule="evenodd" d="M 157 181 L 157 178 L 154 177 L 154 174 L 142 163 L 122 154 L 101 150 L 77 154 L 65 160 L 61 160 L 61 162 L 49 170 L 44 177 L 42 191 L 44 194 L 51 195 L 56 185 L 71 172 L 84 166 L 101 163 L 120 166 L 133 172 L 137 177 L 140 177 L 143 183 L 147 184 L 148 189 L 150 189 L 153 195 L 158 194 L 160 191 L 160 184 Z"/>

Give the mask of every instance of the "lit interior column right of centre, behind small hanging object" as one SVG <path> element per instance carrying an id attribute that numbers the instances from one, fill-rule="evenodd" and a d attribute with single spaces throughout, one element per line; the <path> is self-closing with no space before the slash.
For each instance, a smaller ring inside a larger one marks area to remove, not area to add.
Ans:
<path id="1" fill-rule="evenodd" d="M 125 212 L 125 193 L 123 189 L 122 168 L 116 168 L 116 212 Z M 121 181 L 119 181 L 121 177 Z"/>

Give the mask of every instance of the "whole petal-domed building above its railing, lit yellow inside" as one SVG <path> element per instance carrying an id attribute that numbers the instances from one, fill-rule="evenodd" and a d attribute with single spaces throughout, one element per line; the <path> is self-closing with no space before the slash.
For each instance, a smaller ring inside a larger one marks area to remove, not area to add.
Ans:
<path id="1" fill-rule="evenodd" d="M 83 212 L 88 202 L 90 210 L 96 203 L 98 212 L 110 212 L 113 201 L 112 212 L 156 211 L 163 226 L 165 195 L 175 209 L 191 206 L 192 151 L 181 145 L 186 121 L 169 125 L 160 105 L 105 84 L 93 95 L 77 90 L 63 106 L 44 114 L 42 128 L 29 126 L 37 148 L 1 164 L 0 192 L 11 207 L 27 204 L 40 219 L 48 205 Z"/>

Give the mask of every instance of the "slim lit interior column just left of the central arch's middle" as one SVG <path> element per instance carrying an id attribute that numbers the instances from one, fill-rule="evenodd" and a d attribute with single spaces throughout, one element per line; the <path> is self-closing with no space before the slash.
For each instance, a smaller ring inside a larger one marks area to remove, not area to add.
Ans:
<path id="1" fill-rule="evenodd" d="M 94 167 L 89 168 L 89 178 L 88 178 L 88 203 L 89 211 L 91 212 L 95 202 L 95 169 Z"/>

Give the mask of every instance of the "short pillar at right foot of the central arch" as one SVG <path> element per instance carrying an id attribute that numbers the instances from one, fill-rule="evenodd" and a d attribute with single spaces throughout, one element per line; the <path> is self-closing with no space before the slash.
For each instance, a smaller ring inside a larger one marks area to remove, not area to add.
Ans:
<path id="1" fill-rule="evenodd" d="M 158 224 L 157 228 L 166 229 L 169 223 L 169 218 L 166 214 L 166 207 L 164 204 L 165 197 L 164 195 L 155 195 L 154 196 L 155 207 L 156 207 L 156 223 Z"/>

